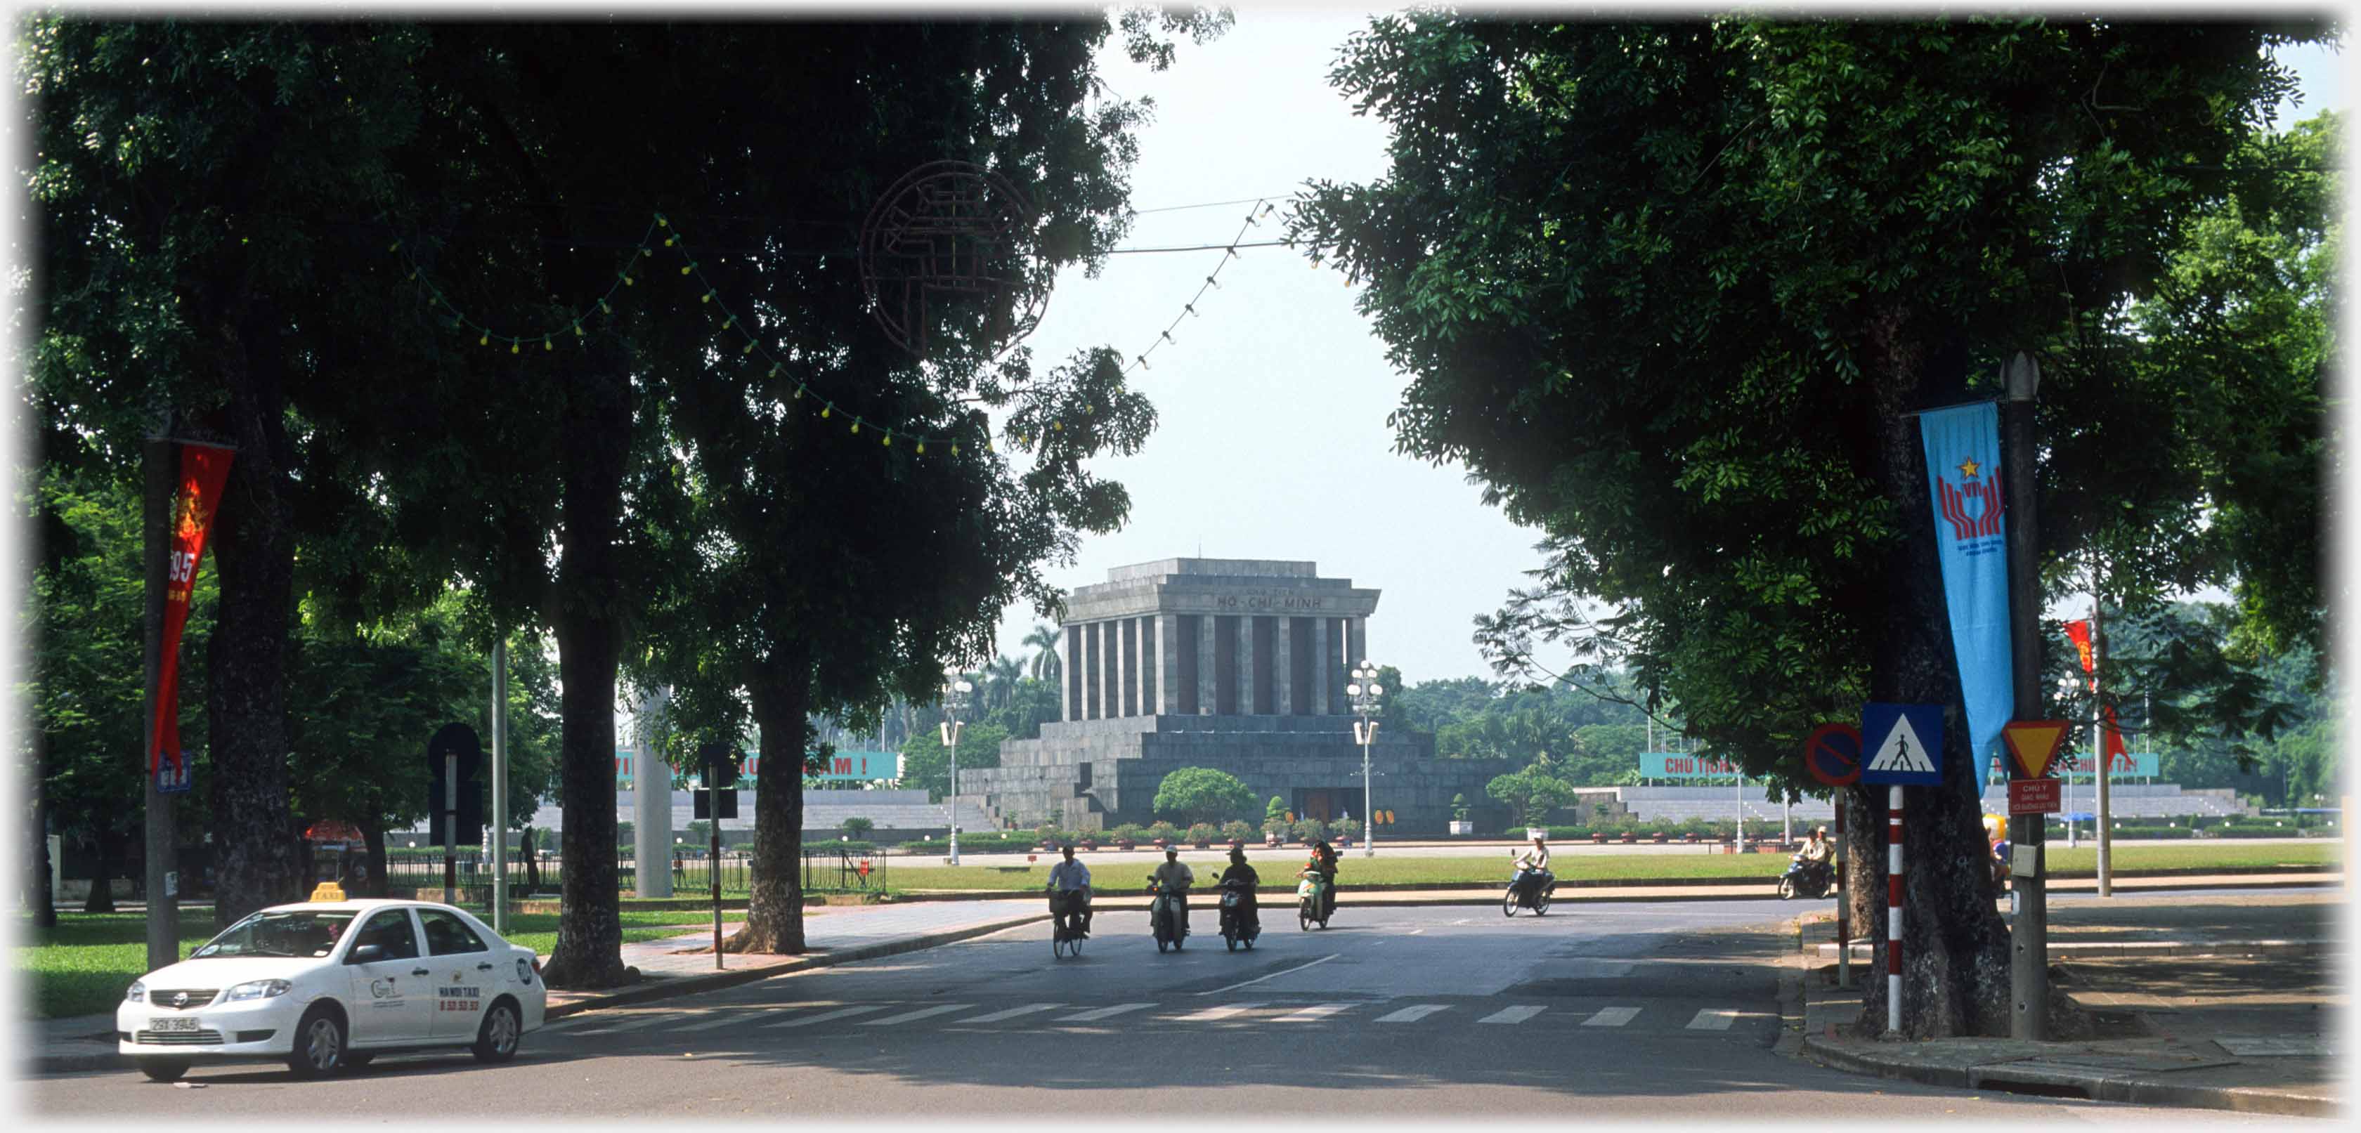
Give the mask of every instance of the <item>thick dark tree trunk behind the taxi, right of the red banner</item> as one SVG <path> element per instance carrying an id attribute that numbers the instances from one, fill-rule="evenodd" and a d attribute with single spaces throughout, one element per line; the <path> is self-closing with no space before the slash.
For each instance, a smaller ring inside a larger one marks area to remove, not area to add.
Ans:
<path id="1" fill-rule="evenodd" d="M 208 545 L 220 607 L 205 642 L 205 744 L 212 753 L 212 923 L 302 897 L 288 810 L 286 644 L 295 604 L 293 451 L 279 382 L 279 326 L 246 319 L 222 330 L 229 404 L 217 427 L 238 446 Z M 260 345 L 248 349 L 250 345 Z"/>

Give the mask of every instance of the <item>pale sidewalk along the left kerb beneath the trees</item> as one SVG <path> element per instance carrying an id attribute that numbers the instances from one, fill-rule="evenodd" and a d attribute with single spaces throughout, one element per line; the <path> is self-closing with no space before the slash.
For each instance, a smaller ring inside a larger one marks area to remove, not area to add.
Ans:
<path id="1" fill-rule="evenodd" d="M 805 918 L 803 956 L 722 956 L 722 970 L 713 968 L 713 954 L 685 951 L 713 947 L 713 932 L 623 944 L 623 965 L 640 970 L 640 982 L 604 991 L 550 991 L 548 1017 L 557 1020 L 593 1008 L 645 1003 L 652 998 L 689 996 L 720 987 L 751 984 L 772 975 L 831 968 L 838 963 L 897 956 L 904 951 L 933 949 L 968 937 L 982 937 L 1003 928 L 1048 921 L 1048 906 L 1039 899 L 959 902 L 959 904 L 888 904 L 843 906 Z M 725 923 L 722 932 L 737 932 L 741 923 Z M 545 961 L 548 956 L 543 956 Z M 26 1027 L 33 1057 L 19 1067 L 33 1074 L 61 1074 L 76 1069 L 130 1069 L 130 1060 L 116 1053 L 116 1017 L 76 1015 L 68 1020 L 31 1020 Z"/>

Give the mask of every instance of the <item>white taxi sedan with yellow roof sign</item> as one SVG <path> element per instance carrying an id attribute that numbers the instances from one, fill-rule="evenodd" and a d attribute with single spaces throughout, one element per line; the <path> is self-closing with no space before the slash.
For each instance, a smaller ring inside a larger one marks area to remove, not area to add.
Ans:
<path id="1" fill-rule="evenodd" d="M 541 1029 L 534 949 L 449 904 L 338 897 L 323 885 L 307 904 L 262 909 L 132 982 L 116 1050 L 156 1081 L 215 1057 L 281 1057 L 321 1076 L 425 1046 L 508 1062 Z"/>

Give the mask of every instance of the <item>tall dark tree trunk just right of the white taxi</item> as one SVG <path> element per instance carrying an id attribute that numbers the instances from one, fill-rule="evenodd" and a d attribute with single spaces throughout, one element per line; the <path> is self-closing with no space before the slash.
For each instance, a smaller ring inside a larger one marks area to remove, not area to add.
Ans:
<path id="1" fill-rule="evenodd" d="M 633 980 L 623 968 L 623 921 L 614 824 L 614 675 L 623 654 L 616 536 L 623 526 L 623 463 L 630 385 L 619 359 L 593 349 L 564 387 L 562 541 L 552 626 L 560 675 L 560 781 L 564 880 L 550 987 L 595 989 Z"/>

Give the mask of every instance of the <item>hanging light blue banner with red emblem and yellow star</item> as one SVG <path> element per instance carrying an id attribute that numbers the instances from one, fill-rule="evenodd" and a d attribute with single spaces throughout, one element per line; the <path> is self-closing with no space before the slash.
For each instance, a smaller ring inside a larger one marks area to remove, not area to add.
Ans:
<path id="1" fill-rule="evenodd" d="M 2000 526 L 2000 406 L 1919 415 L 1927 479 L 1934 489 L 1934 545 L 1943 562 L 1943 607 L 1967 701 L 1967 741 L 1983 767 L 2016 706 L 2009 661 L 2009 538 Z"/>

